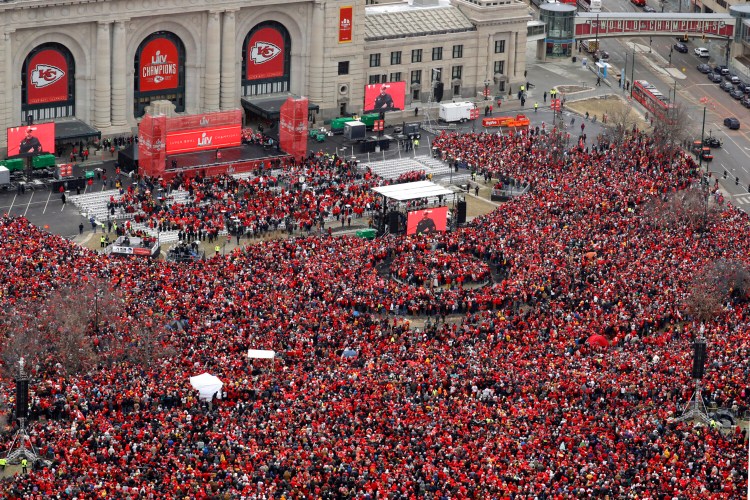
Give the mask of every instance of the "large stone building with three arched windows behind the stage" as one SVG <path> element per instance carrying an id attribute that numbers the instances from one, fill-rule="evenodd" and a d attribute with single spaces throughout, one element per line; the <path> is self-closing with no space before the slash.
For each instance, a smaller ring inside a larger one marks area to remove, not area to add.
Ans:
<path id="1" fill-rule="evenodd" d="M 130 133 L 154 100 L 177 113 L 304 95 L 318 118 L 359 112 L 367 84 L 405 106 L 524 78 L 521 0 L 19 0 L 0 3 L 0 121 L 76 118 Z M 5 137 L 0 134 L 0 148 Z"/>

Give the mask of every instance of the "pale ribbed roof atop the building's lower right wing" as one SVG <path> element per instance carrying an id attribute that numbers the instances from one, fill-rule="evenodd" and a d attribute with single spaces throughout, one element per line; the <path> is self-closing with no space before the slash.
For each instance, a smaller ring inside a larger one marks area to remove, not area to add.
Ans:
<path id="1" fill-rule="evenodd" d="M 368 8 L 365 40 L 387 40 L 413 36 L 474 31 L 476 27 L 456 7 Z"/>

